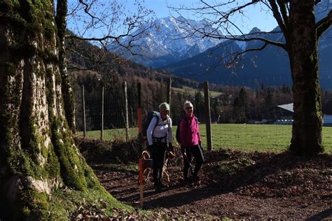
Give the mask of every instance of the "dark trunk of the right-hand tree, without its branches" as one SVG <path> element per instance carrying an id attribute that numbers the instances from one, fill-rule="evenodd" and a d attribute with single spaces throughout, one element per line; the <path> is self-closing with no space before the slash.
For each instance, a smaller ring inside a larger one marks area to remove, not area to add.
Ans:
<path id="1" fill-rule="evenodd" d="M 297 155 L 312 155 L 323 151 L 314 1 L 294 0 L 290 3 L 288 47 L 294 100 L 290 150 Z"/>

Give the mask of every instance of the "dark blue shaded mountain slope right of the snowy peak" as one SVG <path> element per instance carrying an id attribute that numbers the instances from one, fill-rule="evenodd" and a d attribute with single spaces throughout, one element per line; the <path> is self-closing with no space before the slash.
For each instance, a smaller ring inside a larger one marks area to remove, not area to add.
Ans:
<path id="1" fill-rule="evenodd" d="M 326 17 L 332 9 L 332 0 L 322 0 L 315 7 L 316 20 Z M 258 28 L 249 32 L 251 37 L 261 37 L 276 42 L 285 42 L 284 35 L 279 27 L 270 34 L 261 33 Z M 236 43 L 236 44 L 233 44 Z M 225 41 L 215 48 L 210 48 L 194 57 L 163 66 L 177 76 L 193 80 L 209 80 L 214 83 L 227 85 L 257 87 L 265 85 L 291 85 L 291 68 L 286 51 L 274 45 L 268 45 L 264 50 L 246 52 L 242 55 L 241 64 L 236 68 L 228 68 L 219 62 L 220 57 L 244 49 L 260 48 L 261 41 L 230 42 Z M 238 46 L 238 48 L 237 48 Z M 332 88 L 332 27 L 319 38 L 319 78 L 321 87 Z"/>

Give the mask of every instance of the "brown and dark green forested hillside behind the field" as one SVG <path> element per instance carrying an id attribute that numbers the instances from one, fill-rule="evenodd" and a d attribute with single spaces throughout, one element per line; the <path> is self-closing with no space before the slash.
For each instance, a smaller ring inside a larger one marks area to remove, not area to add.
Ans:
<path id="1" fill-rule="evenodd" d="M 191 87 L 197 92 L 189 90 L 172 90 L 171 115 L 176 124 L 182 115 L 182 104 L 186 99 L 193 101 L 195 114 L 205 121 L 205 106 L 202 83 L 173 76 L 167 71 L 158 71 L 127 59 L 118 57 L 110 52 L 85 41 L 68 41 L 67 58 L 71 83 L 76 94 L 76 127 L 82 129 L 82 100 L 81 88 L 85 87 L 85 108 L 88 129 L 99 129 L 101 115 L 101 88 L 104 85 L 106 128 L 124 127 L 123 113 L 123 82 L 127 82 L 128 106 L 130 110 L 130 127 L 137 126 L 137 83 L 141 83 L 141 106 L 143 114 L 155 110 L 158 105 L 166 101 L 167 78 L 172 78 L 172 87 Z M 235 87 L 209 84 L 210 91 L 219 92 L 211 97 L 212 122 L 244 123 L 268 119 L 266 110 L 281 104 L 293 102 L 291 88 L 287 85 L 275 87 L 261 84 L 257 89 L 250 87 Z M 324 112 L 331 113 L 332 96 L 329 91 L 324 92 Z M 110 101 L 107 101 L 109 99 Z M 89 120 L 90 119 L 90 120 Z M 114 119 L 117 122 L 114 122 Z M 120 119 L 120 122 L 119 122 Z"/>

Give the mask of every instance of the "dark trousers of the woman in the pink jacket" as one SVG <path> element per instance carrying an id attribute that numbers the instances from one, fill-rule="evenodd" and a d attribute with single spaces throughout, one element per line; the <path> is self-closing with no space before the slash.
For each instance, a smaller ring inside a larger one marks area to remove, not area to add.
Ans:
<path id="1" fill-rule="evenodd" d="M 184 157 L 184 179 L 186 180 L 188 178 L 188 169 L 191 168 L 190 163 L 193 157 L 195 157 L 196 161 L 195 170 L 193 172 L 194 177 L 198 175 L 198 171 L 200 171 L 200 168 L 204 162 L 204 157 L 199 145 L 184 148 L 184 153 L 187 155 L 187 157 Z"/>

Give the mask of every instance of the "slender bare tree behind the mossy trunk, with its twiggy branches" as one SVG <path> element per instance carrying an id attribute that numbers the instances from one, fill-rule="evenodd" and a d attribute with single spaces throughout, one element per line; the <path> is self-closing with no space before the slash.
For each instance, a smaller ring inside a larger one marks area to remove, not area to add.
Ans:
<path id="1" fill-rule="evenodd" d="M 68 6 L 67 6 L 68 5 Z M 62 75 L 62 92 L 64 99 L 64 110 L 69 127 L 74 131 L 74 95 L 70 87 L 67 73 L 66 45 L 71 45 L 70 50 L 77 57 L 84 57 L 92 65 L 88 67 L 71 66 L 75 69 L 92 69 L 98 71 L 99 67 L 107 64 L 107 58 L 113 54 L 109 53 L 109 45 L 117 45 L 134 55 L 132 47 L 147 29 L 153 27 L 153 12 L 146 10 L 141 2 L 133 2 L 135 8 L 128 10 L 125 1 L 96 1 L 79 0 L 67 3 L 67 0 L 57 1 L 55 20 L 60 38 L 59 56 L 62 59 L 60 73 Z M 136 9 L 136 10 L 134 10 Z M 70 31 L 66 31 L 69 24 Z M 139 29 L 138 27 L 144 27 Z M 129 39 L 126 43 L 120 43 L 121 38 Z M 92 50 L 80 47 L 81 41 L 90 41 L 97 48 L 104 50 Z M 116 42 L 117 44 L 112 44 Z M 112 59 L 120 63 L 118 56 L 113 55 Z M 111 64 L 114 65 L 114 64 Z"/>

